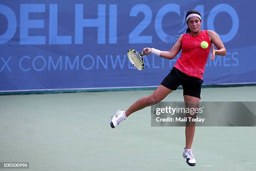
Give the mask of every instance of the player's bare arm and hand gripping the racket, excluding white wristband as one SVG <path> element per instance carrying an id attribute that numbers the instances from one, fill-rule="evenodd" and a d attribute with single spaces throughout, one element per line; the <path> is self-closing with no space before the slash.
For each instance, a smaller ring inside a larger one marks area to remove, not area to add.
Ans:
<path id="1" fill-rule="evenodd" d="M 177 42 L 174 44 L 174 46 L 169 51 L 161 51 L 160 57 L 163 57 L 163 58 L 166 58 L 166 59 L 173 59 L 174 57 L 176 57 L 176 55 L 181 50 L 182 36 L 183 36 L 183 34 L 179 36 L 179 39 L 177 40 Z M 146 49 L 148 49 L 148 52 L 145 51 Z M 146 48 L 143 49 L 143 54 L 145 54 L 145 55 L 148 55 L 151 52 L 152 52 L 152 48 L 146 47 Z"/>

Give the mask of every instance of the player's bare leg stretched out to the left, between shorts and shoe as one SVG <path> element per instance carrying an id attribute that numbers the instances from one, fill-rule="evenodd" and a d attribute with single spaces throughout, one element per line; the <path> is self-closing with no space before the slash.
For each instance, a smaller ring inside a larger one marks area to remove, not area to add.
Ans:
<path id="1" fill-rule="evenodd" d="M 161 102 L 168 94 L 170 94 L 173 90 L 164 87 L 163 85 L 159 85 L 159 87 L 148 97 L 142 97 L 137 100 L 135 103 L 131 105 L 126 111 L 125 115 L 129 116 L 130 114 L 141 110 L 145 107 L 151 106 L 153 104 L 157 104 Z"/>

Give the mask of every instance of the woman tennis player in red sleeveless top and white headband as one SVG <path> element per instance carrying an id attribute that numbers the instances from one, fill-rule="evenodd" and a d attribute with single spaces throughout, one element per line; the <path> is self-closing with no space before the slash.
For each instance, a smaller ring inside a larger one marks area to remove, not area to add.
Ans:
<path id="1" fill-rule="evenodd" d="M 205 64 L 209 56 L 210 48 L 212 51 L 210 59 L 214 60 L 215 55 L 226 55 L 226 49 L 220 37 L 212 30 L 201 30 L 201 15 L 196 10 L 187 12 L 185 17 L 187 23 L 186 34 L 180 35 L 175 45 L 169 51 L 160 51 L 154 48 L 143 49 L 143 55 L 150 53 L 173 59 L 182 50 L 181 57 L 177 59 L 171 72 L 164 78 L 159 87 L 148 97 L 143 97 L 131 105 L 127 110 L 118 110 L 110 119 L 110 126 L 115 128 L 121 121 L 125 120 L 130 114 L 145 107 L 161 102 L 169 93 L 182 85 L 185 104 L 194 103 L 199 106 L 202 76 Z M 201 43 L 207 46 L 201 46 Z M 215 50 L 214 45 L 218 50 Z M 183 157 L 187 159 L 189 166 L 195 166 L 196 160 L 192 154 L 191 146 L 195 134 L 195 125 L 186 126 L 186 147 L 183 149 Z"/>

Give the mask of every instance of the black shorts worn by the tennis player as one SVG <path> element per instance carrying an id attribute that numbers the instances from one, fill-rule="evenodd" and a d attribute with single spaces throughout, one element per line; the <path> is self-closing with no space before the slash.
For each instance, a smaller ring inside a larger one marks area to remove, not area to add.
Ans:
<path id="1" fill-rule="evenodd" d="M 201 99 L 201 85 L 203 82 L 202 79 L 188 76 L 173 67 L 171 72 L 161 82 L 161 85 L 172 90 L 176 90 L 181 85 L 183 87 L 183 96 L 189 95 Z"/>

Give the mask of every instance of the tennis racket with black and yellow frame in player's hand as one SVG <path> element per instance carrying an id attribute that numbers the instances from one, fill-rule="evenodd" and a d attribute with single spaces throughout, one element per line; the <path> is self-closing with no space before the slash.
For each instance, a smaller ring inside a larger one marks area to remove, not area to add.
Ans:
<path id="1" fill-rule="evenodd" d="M 145 51 L 148 52 L 148 49 Z M 142 70 L 144 68 L 142 52 L 139 53 L 136 50 L 130 49 L 127 51 L 127 57 L 136 69 Z"/>

